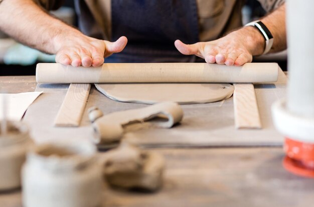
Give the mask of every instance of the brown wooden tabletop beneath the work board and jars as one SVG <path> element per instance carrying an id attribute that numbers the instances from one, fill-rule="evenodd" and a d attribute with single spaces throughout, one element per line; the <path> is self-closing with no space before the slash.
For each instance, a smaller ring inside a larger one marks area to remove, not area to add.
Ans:
<path id="1" fill-rule="evenodd" d="M 34 76 L 0 77 L 8 93 L 34 91 Z M 106 188 L 103 206 L 312 206 L 314 179 L 282 167 L 280 147 L 152 149 L 165 156 L 156 193 Z M 21 190 L 0 193 L 1 207 L 20 207 Z"/>

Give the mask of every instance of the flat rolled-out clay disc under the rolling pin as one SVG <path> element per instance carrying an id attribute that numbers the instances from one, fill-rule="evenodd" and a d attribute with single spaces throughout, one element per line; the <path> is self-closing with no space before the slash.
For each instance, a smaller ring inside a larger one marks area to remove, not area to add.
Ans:
<path id="1" fill-rule="evenodd" d="M 234 87 L 217 83 L 163 83 L 163 84 L 95 84 L 108 98 L 130 103 L 154 104 L 173 101 L 179 104 L 197 104 L 230 98 Z"/>

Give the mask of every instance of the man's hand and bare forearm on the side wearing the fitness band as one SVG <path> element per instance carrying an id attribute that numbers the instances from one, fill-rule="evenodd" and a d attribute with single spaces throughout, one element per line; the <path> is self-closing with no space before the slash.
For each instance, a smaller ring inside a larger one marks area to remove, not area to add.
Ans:
<path id="1" fill-rule="evenodd" d="M 274 37 L 270 52 L 285 49 L 285 4 L 264 17 L 262 22 Z M 256 28 L 245 27 L 215 41 L 186 45 L 176 40 L 175 46 L 182 54 L 199 56 L 207 63 L 241 66 L 251 62 L 252 56 L 263 53 L 265 40 Z"/>

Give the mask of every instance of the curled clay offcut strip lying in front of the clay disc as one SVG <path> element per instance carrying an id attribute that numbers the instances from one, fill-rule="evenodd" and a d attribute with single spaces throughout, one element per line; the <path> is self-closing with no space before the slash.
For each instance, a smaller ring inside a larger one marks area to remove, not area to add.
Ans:
<path id="1" fill-rule="evenodd" d="M 109 144 L 119 141 L 123 135 L 122 127 L 128 124 L 160 118 L 151 120 L 151 125 L 171 128 L 174 124 L 180 122 L 182 117 L 182 108 L 173 102 L 163 102 L 145 108 L 114 112 L 98 118 L 93 123 L 94 142 L 96 144 Z"/>

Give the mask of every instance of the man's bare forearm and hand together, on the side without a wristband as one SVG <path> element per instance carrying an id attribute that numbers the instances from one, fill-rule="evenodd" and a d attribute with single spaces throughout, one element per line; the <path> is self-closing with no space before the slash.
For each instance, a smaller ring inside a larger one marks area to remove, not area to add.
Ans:
<path id="1" fill-rule="evenodd" d="M 0 30 L 21 43 L 56 54 L 56 62 L 73 66 L 100 66 L 104 58 L 123 50 L 125 37 L 116 42 L 90 38 L 51 17 L 32 0 L 3 1 Z"/>

